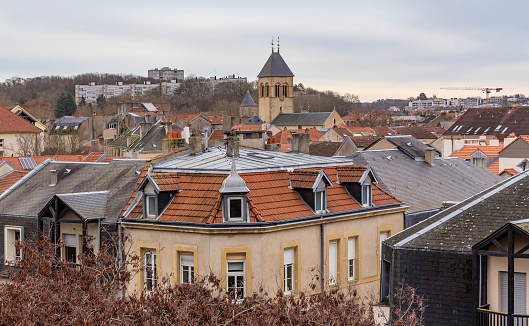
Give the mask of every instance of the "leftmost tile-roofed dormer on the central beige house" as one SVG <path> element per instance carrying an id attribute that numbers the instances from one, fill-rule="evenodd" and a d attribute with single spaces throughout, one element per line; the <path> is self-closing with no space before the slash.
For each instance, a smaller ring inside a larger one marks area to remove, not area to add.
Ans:
<path id="1" fill-rule="evenodd" d="M 164 174 L 158 178 L 156 174 L 147 174 L 138 186 L 143 199 L 143 218 L 157 219 L 180 191 L 179 175 Z"/>

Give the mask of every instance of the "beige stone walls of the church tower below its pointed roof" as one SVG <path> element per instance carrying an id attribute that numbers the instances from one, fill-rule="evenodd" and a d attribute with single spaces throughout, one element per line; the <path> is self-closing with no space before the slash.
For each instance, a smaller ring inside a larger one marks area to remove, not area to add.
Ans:
<path id="1" fill-rule="evenodd" d="M 261 120 L 269 123 L 281 112 L 294 113 L 294 77 L 261 77 L 258 86 Z M 287 90 L 286 96 L 283 86 Z M 277 89 L 279 92 L 276 92 Z"/>

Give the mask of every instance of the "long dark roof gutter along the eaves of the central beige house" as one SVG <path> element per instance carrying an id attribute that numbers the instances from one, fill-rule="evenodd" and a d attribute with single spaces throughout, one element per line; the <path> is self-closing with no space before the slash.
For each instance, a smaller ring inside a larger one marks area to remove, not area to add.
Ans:
<path id="1" fill-rule="evenodd" d="M 336 212 L 336 213 L 327 213 L 327 214 L 317 214 L 313 216 L 298 217 L 295 219 L 289 219 L 285 221 L 271 221 L 271 222 L 252 222 L 252 223 L 218 223 L 218 224 L 203 224 L 203 223 L 191 223 L 191 222 L 174 222 L 174 221 L 160 221 L 157 220 L 156 223 L 153 223 L 152 220 L 148 219 L 137 219 L 137 218 L 122 218 L 120 224 L 122 225 L 149 225 L 149 226 L 168 226 L 175 228 L 187 228 L 187 229 L 202 229 L 202 230 L 222 230 L 222 229 L 231 229 L 231 230 L 254 230 L 254 229 L 270 229 L 276 226 L 282 225 L 297 225 L 311 221 L 325 221 L 331 218 L 338 218 L 343 216 L 354 216 L 360 215 L 362 213 L 368 213 L 372 211 L 384 212 L 393 210 L 395 208 L 405 208 L 403 204 L 390 204 L 384 206 L 374 206 L 374 207 L 365 207 L 355 210 L 349 210 L 345 212 Z"/>

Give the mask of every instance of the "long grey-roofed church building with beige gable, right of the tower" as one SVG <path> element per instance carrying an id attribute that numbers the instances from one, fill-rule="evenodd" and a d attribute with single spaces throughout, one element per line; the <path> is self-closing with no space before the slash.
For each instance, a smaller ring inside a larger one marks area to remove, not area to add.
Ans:
<path id="1" fill-rule="evenodd" d="M 279 129 L 307 129 L 307 128 L 332 128 L 334 126 L 344 127 L 345 124 L 336 110 L 331 112 L 301 112 L 301 113 L 279 113 L 273 125 Z"/>

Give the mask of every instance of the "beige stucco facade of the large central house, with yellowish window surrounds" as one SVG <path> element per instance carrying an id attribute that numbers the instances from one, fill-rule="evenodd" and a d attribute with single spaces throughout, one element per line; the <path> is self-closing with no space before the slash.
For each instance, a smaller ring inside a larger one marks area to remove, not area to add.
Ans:
<path id="1" fill-rule="evenodd" d="M 301 223 L 284 223 L 273 227 L 219 229 L 122 222 L 140 257 L 146 250 L 157 253 L 158 278 L 169 275 L 180 282 L 179 256 L 194 256 L 195 273 L 213 272 L 226 287 L 226 266 L 230 259 L 245 261 L 246 295 L 260 286 L 275 293 L 284 289 L 283 259 L 285 250 L 295 255 L 294 292 L 309 291 L 314 277 L 324 270 L 324 284 L 329 288 L 329 242 L 336 241 L 337 285 L 354 285 L 362 296 L 378 296 L 380 279 L 380 234 L 393 235 L 403 229 L 405 207 L 352 215 L 315 219 Z M 147 222 L 144 220 L 144 222 Z M 322 226 L 324 266 L 321 264 Z M 356 238 L 355 279 L 348 279 L 348 239 Z M 317 291 L 321 289 L 317 283 Z M 143 290 L 143 274 L 132 281 L 128 291 Z"/>

